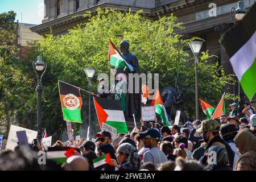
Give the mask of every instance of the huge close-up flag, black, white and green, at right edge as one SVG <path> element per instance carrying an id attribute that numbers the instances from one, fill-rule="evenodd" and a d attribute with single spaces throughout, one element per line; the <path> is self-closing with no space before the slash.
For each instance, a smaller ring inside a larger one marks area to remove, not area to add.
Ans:
<path id="1" fill-rule="evenodd" d="M 230 58 L 243 92 L 251 101 L 256 92 L 256 3 L 219 41 Z"/>

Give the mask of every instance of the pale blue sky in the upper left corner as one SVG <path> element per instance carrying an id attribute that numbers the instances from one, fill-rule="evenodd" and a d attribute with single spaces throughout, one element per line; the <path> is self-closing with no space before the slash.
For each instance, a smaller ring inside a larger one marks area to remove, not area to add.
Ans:
<path id="1" fill-rule="evenodd" d="M 41 24 L 44 0 L 0 0 L 0 13 L 10 10 L 16 13 L 19 23 Z"/>

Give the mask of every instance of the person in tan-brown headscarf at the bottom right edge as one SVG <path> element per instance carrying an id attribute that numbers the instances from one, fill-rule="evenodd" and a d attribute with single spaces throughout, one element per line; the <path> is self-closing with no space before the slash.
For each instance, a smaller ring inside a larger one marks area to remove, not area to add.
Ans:
<path id="1" fill-rule="evenodd" d="M 256 137 L 250 130 L 241 130 L 234 142 L 241 153 L 235 167 L 236 171 L 255 171 L 256 170 Z"/>

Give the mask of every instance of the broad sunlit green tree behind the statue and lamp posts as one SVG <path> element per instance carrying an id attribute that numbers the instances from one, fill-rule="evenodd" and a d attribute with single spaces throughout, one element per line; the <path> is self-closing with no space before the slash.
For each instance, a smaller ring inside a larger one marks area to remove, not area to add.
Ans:
<path id="1" fill-rule="evenodd" d="M 119 13 L 116 10 L 100 9 L 97 10 L 96 15 L 92 16 L 88 12 L 85 16 L 88 17 L 88 22 L 72 28 L 68 34 L 63 36 L 49 34 L 43 42 L 31 43 L 33 49 L 28 54 L 28 58 L 23 60 L 22 67 L 23 72 L 30 72 L 27 78 L 31 82 L 24 84 L 23 92 L 19 94 L 20 100 L 26 102 L 19 107 L 19 122 L 30 121 L 27 123 L 35 125 L 33 121 L 36 115 L 34 91 L 36 82 L 32 81 L 31 61 L 35 60 L 36 56 L 42 55 L 48 67 L 43 77 L 43 127 L 46 127 L 48 133 L 52 134 L 55 139 L 60 138 L 65 129 L 65 122 L 61 113 L 57 81 L 62 80 L 88 89 L 84 67 L 96 67 L 96 76 L 99 73 L 109 74 L 109 38 L 115 45 L 122 40 L 129 40 L 130 50 L 137 55 L 142 72 L 159 73 L 160 90 L 165 86 L 175 85 L 180 65 L 177 84 L 185 96 L 185 111 L 194 117 L 195 68 L 193 59 L 184 51 L 188 48 L 189 40 L 184 40 L 182 35 L 174 32 L 176 28 L 184 28 L 181 23 L 177 23 L 175 16 L 163 16 L 151 21 L 142 16 L 142 11 L 134 14 L 130 11 Z M 224 86 L 233 84 L 234 81 L 232 76 L 225 76 L 220 65 L 210 64 L 209 59 L 208 52 L 204 52 L 200 58 L 199 96 L 217 105 Z M 97 89 L 97 84 L 94 80 L 93 90 Z M 83 123 L 74 125 L 75 133 L 81 130 L 82 137 L 85 137 L 88 126 L 88 94 L 84 92 L 81 94 L 84 102 L 82 105 Z M 97 123 L 97 117 L 94 109 L 92 111 L 92 130 L 95 133 L 94 124 Z M 201 115 L 203 117 L 203 112 Z"/>

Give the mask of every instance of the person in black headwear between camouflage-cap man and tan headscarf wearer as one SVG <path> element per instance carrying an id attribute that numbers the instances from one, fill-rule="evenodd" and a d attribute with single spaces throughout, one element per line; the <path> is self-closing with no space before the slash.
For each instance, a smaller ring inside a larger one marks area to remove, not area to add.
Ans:
<path id="1" fill-rule="evenodd" d="M 220 130 L 220 135 L 222 139 L 224 139 L 231 149 L 234 152 L 234 164 L 233 164 L 233 169 L 236 167 L 236 163 L 238 158 L 240 157 L 240 152 L 237 151 L 237 146 L 234 143 L 234 138 L 236 137 L 238 131 L 237 131 L 237 126 L 233 124 L 224 124 L 221 126 Z"/>

